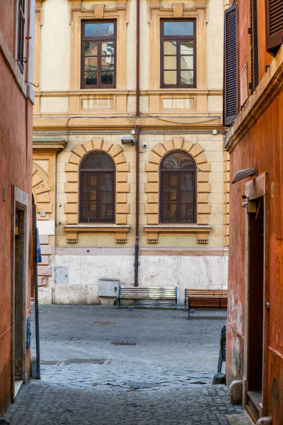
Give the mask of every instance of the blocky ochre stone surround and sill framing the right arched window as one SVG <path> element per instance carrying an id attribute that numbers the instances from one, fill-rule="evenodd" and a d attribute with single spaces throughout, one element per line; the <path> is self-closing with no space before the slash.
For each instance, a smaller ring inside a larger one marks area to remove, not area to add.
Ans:
<path id="1" fill-rule="evenodd" d="M 186 231 L 188 225 L 178 224 L 176 226 L 164 226 L 159 224 L 159 178 L 160 178 L 160 163 L 162 158 L 171 151 L 184 151 L 194 159 L 197 167 L 197 222 L 191 226 L 189 232 L 194 231 L 198 234 L 198 243 L 203 244 L 208 242 L 208 232 L 203 233 L 197 226 L 207 226 L 208 216 L 210 214 L 210 205 L 208 203 L 208 197 L 210 192 L 210 183 L 208 183 L 208 172 L 210 172 L 210 165 L 207 163 L 204 149 L 198 143 L 192 143 L 184 140 L 182 137 L 175 137 L 164 143 L 157 144 L 151 153 L 148 163 L 146 163 L 146 175 L 147 183 L 145 183 L 145 192 L 147 194 L 147 200 L 145 205 L 145 213 L 147 216 L 148 226 L 156 226 L 162 230 L 162 232 Z M 210 229 L 210 227 L 209 227 Z M 199 231 L 198 231 L 199 230 Z M 158 233 L 160 231 L 149 231 L 148 227 L 145 227 L 147 233 L 148 243 L 158 242 Z"/>

